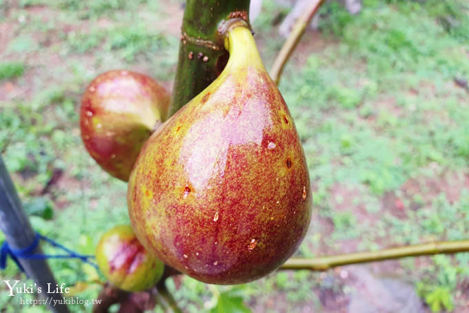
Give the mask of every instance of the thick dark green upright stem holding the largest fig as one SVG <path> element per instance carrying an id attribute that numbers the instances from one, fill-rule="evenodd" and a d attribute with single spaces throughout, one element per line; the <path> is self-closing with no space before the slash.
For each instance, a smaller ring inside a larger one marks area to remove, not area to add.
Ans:
<path id="1" fill-rule="evenodd" d="M 217 78 L 228 60 L 218 27 L 230 17 L 248 20 L 250 0 L 187 0 L 169 116 Z"/>

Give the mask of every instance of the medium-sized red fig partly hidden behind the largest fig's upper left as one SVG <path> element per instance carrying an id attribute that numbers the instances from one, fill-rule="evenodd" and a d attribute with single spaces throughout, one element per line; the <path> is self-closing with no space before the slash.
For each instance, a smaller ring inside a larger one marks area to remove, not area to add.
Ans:
<path id="1" fill-rule="evenodd" d="M 128 181 L 141 146 L 166 119 L 170 95 L 146 75 L 112 70 L 96 77 L 81 99 L 86 149 L 110 175 Z"/>

